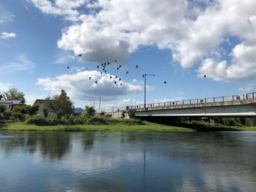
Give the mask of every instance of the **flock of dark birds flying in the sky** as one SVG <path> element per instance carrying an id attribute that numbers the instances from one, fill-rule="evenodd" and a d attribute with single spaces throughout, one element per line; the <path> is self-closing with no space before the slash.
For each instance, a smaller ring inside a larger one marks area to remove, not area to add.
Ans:
<path id="1" fill-rule="evenodd" d="M 78 56 L 81 57 L 82 55 L 80 54 L 80 55 L 78 55 Z M 117 61 L 114 60 L 114 62 L 116 63 Z M 106 72 L 107 72 L 106 68 L 107 68 L 107 66 L 109 66 L 110 64 L 111 64 L 110 62 L 102 63 L 102 64 L 100 64 L 100 65 L 97 65 L 97 69 L 99 69 L 99 68 L 101 67 L 101 68 L 102 68 L 102 71 L 103 71 L 104 73 L 106 73 Z M 121 69 L 121 67 L 122 67 L 122 65 L 119 65 L 116 70 Z M 135 68 L 138 69 L 139 66 L 136 65 Z M 70 67 L 67 66 L 67 69 L 70 69 Z M 103 75 L 103 72 L 100 72 L 100 74 Z M 127 71 L 125 74 L 129 74 L 129 71 Z M 143 74 L 142 77 L 144 77 L 144 74 Z M 203 77 L 206 78 L 206 74 L 204 74 Z M 120 86 L 123 85 L 123 82 L 121 82 L 121 77 L 118 77 L 118 76 L 113 76 L 113 77 L 112 77 L 112 75 L 110 75 L 109 78 L 110 78 L 110 79 L 113 79 L 114 85 L 120 85 Z M 93 80 L 92 77 L 89 77 L 89 80 Z M 94 83 L 95 83 L 95 84 L 98 84 L 98 80 L 95 80 Z M 164 84 L 167 84 L 167 81 L 165 81 Z"/>

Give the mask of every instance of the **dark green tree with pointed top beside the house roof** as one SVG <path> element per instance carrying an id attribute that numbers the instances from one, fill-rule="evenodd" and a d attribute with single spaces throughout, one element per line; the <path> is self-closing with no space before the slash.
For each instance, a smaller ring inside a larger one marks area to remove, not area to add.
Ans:
<path id="1" fill-rule="evenodd" d="M 74 106 L 64 90 L 61 90 L 60 95 L 46 98 L 45 103 L 50 110 L 54 113 L 58 113 L 58 115 L 67 116 L 73 114 Z"/>

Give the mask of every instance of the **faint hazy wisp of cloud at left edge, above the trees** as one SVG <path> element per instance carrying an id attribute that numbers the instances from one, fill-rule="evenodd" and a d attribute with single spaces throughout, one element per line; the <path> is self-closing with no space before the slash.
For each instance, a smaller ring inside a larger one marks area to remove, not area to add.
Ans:
<path id="1" fill-rule="evenodd" d="M 17 56 L 15 61 L 10 62 L 9 64 L 1 65 L 1 73 L 10 73 L 10 72 L 20 72 L 20 71 L 28 71 L 34 72 L 36 68 L 36 64 L 29 60 L 29 58 L 25 54 L 20 54 Z"/>

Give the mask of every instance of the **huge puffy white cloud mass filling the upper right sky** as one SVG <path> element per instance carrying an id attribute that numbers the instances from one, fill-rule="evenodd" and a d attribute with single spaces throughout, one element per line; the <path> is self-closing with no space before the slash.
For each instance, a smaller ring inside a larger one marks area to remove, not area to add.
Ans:
<path id="1" fill-rule="evenodd" d="M 58 47 L 82 54 L 83 61 L 125 64 L 140 46 L 156 45 L 170 50 L 183 68 L 201 63 L 198 72 L 204 70 L 214 80 L 256 77 L 248 55 L 256 47 L 255 0 L 31 1 L 42 12 L 75 21 L 62 31 Z M 78 9 L 82 5 L 86 14 Z M 229 37 L 240 41 L 230 45 L 232 53 L 222 45 Z M 225 61 L 227 54 L 232 62 Z"/>

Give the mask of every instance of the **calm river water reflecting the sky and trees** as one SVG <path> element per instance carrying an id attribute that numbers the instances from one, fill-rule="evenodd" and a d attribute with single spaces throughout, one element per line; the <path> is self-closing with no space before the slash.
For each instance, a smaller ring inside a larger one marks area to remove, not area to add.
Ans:
<path id="1" fill-rule="evenodd" d="M 0 191 L 255 191 L 256 131 L 0 132 Z"/>

